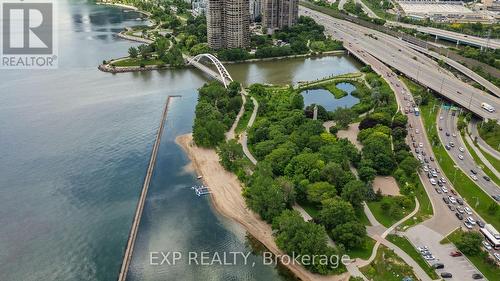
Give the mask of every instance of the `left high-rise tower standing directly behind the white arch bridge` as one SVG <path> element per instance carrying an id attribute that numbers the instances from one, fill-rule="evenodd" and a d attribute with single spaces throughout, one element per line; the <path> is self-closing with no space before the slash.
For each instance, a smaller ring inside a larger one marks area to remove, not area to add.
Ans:
<path id="1" fill-rule="evenodd" d="M 248 47 L 250 44 L 248 0 L 207 0 L 206 16 L 210 48 Z"/>

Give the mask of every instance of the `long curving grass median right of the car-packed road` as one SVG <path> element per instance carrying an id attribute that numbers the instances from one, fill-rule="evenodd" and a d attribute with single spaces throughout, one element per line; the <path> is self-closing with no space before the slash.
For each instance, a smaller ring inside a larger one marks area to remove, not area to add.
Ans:
<path id="1" fill-rule="evenodd" d="M 411 86 L 411 83 L 408 83 L 407 79 L 403 79 L 403 81 L 409 85 L 409 89 L 413 92 L 412 89 L 415 88 Z M 434 96 L 431 96 L 427 105 L 420 106 L 422 121 L 427 132 L 427 137 L 431 142 L 433 139 L 438 139 L 437 128 L 435 126 L 438 110 L 437 108 L 433 110 L 435 105 L 440 106 L 441 103 Z M 500 229 L 500 214 L 491 215 L 488 213 L 488 206 L 496 204 L 496 202 L 477 186 L 469 176 L 464 174 L 462 170 L 459 168 L 455 169 L 455 162 L 448 155 L 442 144 L 433 145 L 432 150 L 436 156 L 436 160 L 439 162 L 439 166 L 442 168 L 442 172 L 446 174 L 448 179 L 453 181 L 455 190 L 487 223 L 492 224 L 496 229 Z M 456 177 L 454 178 L 455 175 Z"/>

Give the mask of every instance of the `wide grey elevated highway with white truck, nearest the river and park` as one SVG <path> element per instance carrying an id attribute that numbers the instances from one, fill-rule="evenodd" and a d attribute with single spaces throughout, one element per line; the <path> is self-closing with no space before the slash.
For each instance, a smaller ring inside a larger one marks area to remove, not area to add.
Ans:
<path id="1" fill-rule="evenodd" d="M 431 58 L 410 48 L 409 43 L 305 7 L 300 7 L 300 12 L 323 24 L 326 32 L 334 38 L 358 46 L 407 77 L 453 100 L 475 114 L 483 118 L 500 119 L 498 111 L 490 113 L 481 108 L 481 104 L 485 102 L 497 110 L 500 109 L 500 101 L 497 97 L 462 82 L 439 67 Z"/>

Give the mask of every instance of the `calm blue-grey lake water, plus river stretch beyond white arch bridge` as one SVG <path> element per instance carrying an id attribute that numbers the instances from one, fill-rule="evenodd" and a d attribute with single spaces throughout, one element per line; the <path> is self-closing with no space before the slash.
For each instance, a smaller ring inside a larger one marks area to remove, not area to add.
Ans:
<path id="1" fill-rule="evenodd" d="M 57 1 L 60 68 L 0 72 L 0 280 L 116 280 L 167 95 L 173 102 L 140 226 L 130 280 L 282 280 L 255 267 L 149 266 L 150 251 L 248 251 L 173 142 L 191 131 L 207 78 L 185 69 L 105 74 L 96 65 L 133 43 L 113 34 L 137 15 Z M 233 65 L 235 79 L 287 82 L 355 71 L 346 57 Z M 288 71 L 290 70 L 290 71 Z M 262 77 L 262 73 L 266 77 Z M 312 74 L 313 73 L 313 74 Z"/>

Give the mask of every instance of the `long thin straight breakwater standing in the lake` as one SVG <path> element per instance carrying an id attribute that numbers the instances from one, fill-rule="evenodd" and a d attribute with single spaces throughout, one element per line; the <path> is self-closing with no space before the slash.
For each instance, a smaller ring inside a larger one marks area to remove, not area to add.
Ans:
<path id="1" fill-rule="evenodd" d="M 161 136 L 163 134 L 163 128 L 165 125 L 165 120 L 167 119 L 168 107 L 173 98 L 180 97 L 178 95 L 170 95 L 167 97 L 167 102 L 165 103 L 165 107 L 163 108 L 163 113 L 161 115 L 160 126 L 158 127 L 158 131 L 156 133 L 155 143 L 153 145 L 153 150 L 151 152 L 151 158 L 149 160 L 148 169 L 146 172 L 146 176 L 144 178 L 144 184 L 142 185 L 142 191 L 139 197 L 139 201 L 137 202 L 137 206 L 135 209 L 134 220 L 132 222 L 132 226 L 130 227 L 130 233 L 128 236 L 127 246 L 125 248 L 125 253 L 123 255 L 122 266 L 120 268 L 120 273 L 118 275 L 118 281 L 125 281 L 127 279 L 127 272 L 130 266 L 130 262 L 132 260 L 132 253 L 134 251 L 135 239 L 137 237 L 137 232 L 139 230 L 139 225 L 141 222 L 142 211 L 144 210 L 144 204 L 146 202 L 146 197 L 148 194 L 149 184 L 151 182 L 151 177 L 153 176 L 153 170 L 156 163 L 156 157 L 158 155 L 158 149 L 160 147 Z"/>

